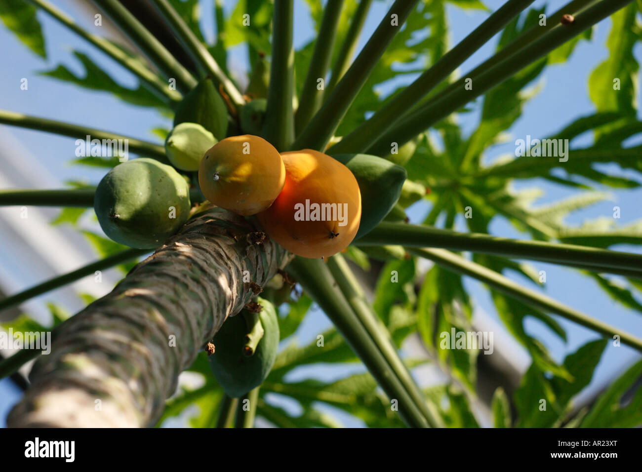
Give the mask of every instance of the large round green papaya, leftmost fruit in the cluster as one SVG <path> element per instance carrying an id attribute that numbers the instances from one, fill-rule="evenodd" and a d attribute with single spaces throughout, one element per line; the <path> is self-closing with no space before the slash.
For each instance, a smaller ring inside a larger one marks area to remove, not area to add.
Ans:
<path id="1" fill-rule="evenodd" d="M 172 166 L 141 157 L 118 164 L 96 187 L 94 210 L 107 236 L 154 249 L 189 216 L 189 186 Z"/>

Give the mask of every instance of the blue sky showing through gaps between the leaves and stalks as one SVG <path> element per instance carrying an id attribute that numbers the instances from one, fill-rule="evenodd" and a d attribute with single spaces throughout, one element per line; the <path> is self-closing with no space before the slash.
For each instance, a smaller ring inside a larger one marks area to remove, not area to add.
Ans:
<path id="1" fill-rule="evenodd" d="M 84 17 L 77 15 L 73 2 L 55 0 L 53 3 L 65 12 L 80 18 L 83 24 L 91 25 L 87 15 Z M 388 2 L 388 4 L 390 3 Z M 485 4 L 491 10 L 496 10 L 503 3 L 501 0 L 485 1 Z M 566 1 L 550 1 L 548 3 L 550 8 L 547 11 L 553 12 Z M 534 2 L 534 6 L 541 6 L 542 4 L 544 4 L 542 1 Z M 365 42 L 368 33 L 376 28 L 379 19 L 386 11 L 386 6 L 387 4 L 384 2 L 374 3 L 366 22 L 361 46 Z M 228 4 L 226 8 L 231 10 L 233 4 Z M 211 12 L 211 0 L 202 2 L 202 12 L 205 13 L 203 22 L 205 35 L 211 38 L 213 37 L 213 25 L 209 21 L 211 15 L 208 13 Z M 469 31 L 487 17 L 485 12 L 464 11 L 451 5 L 448 6 L 447 12 L 451 26 L 451 45 L 463 39 Z M 112 73 L 112 77 L 122 85 L 134 86 L 135 84 L 134 78 L 126 73 L 124 69 L 121 69 L 120 66 L 101 53 L 96 52 L 73 33 L 51 21 L 49 17 L 42 13 L 40 14 L 40 19 L 47 41 L 47 60 L 42 60 L 30 53 L 4 26 L 0 27 L 0 44 L 5 58 L 3 61 L 3 73 L 0 74 L 0 87 L 3 91 L 7 91 L 0 95 L 0 109 L 82 123 L 132 137 L 157 141 L 158 138 L 150 130 L 155 127 L 169 128 L 171 125 L 170 119 L 160 116 L 153 110 L 130 107 L 116 100 L 110 94 L 84 91 L 73 85 L 56 82 L 36 74 L 37 71 L 53 69 L 59 63 L 65 64 L 65 66 L 74 71 L 82 70 L 79 69 L 76 59 L 71 54 L 71 51 L 75 49 L 100 60 L 101 64 L 104 64 L 107 70 Z M 604 44 L 610 25 L 610 20 L 598 24 L 594 28 L 593 40 L 591 42 L 580 42 L 568 62 L 546 69 L 538 83 L 541 86 L 539 94 L 526 103 L 522 117 L 510 129 L 514 137 L 523 137 L 526 134 L 543 137 L 559 130 L 578 116 L 594 111 L 593 104 L 588 96 L 587 77 L 594 67 L 607 57 L 607 49 Z M 312 37 L 311 31 L 313 31 L 313 27 L 307 17 L 306 8 L 300 1 L 297 1 L 295 4 L 295 46 L 306 44 Z M 489 57 L 494 51 L 496 40 L 497 38 L 490 40 L 473 57 L 467 60 L 460 67 L 460 73 L 472 69 L 484 58 Z M 637 48 L 635 52 L 636 58 L 641 60 L 640 49 Z M 234 49 L 232 64 L 243 64 L 244 58 L 244 53 L 241 49 Z M 19 83 L 22 77 L 29 79 L 28 91 L 19 90 Z M 461 121 L 464 130 L 467 132 L 474 130 L 477 118 L 478 114 L 469 114 L 469 116 L 462 117 Z M 101 170 L 67 165 L 67 161 L 73 157 L 73 139 L 18 128 L 10 128 L 10 131 L 21 140 L 31 153 L 39 157 L 42 164 L 60 180 L 61 186 L 65 180 L 89 180 L 94 183 L 100 180 L 103 174 Z M 509 141 L 507 144 L 491 148 L 486 158 L 490 160 L 502 153 L 512 152 L 513 149 L 514 146 Z M 615 173 L 618 168 L 611 166 L 609 170 Z M 636 179 L 639 180 L 639 177 L 636 177 Z M 544 196 L 537 204 L 554 202 L 575 193 L 573 190 L 560 188 L 560 186 L 549 184 L 543 180 L 530 180 L 528 182 L 517 182 L 516 184 L 517 188 L 533 186 L 545 191 Z M 612 193 L 612 201 L 577 211 L 568 218 L 567 223 L 580 225 L 582 221 L 589 218 L 610 216 L 614 205 L 621 207 L 620 223 L 622 225 L 637 220 L 642 216 L 639 207 L 642 201 L 642 190 L 605 190 Z M 415 205 L 411 211 L 413 220 L 421 221 L 428 209 L 429 207 L 426 204 Z M 463 222 L 458 222 L 458 228 L 464 229 Z M 520 234 L 503 220 L 496 220 L 491 229 L 492 233 L 498 236 L 525 238 L 524 234 Z M 637 247 L 620 247 L 618 249 L 640 252 Z M 642 333 L 642 317 L 640 313 L 627 310 L 615 304 L 602 290 L 597 288 L 593 281 L 567 268 L 544 263 L 532 264 L 537 270 L 546 270 L 548 282 L 544 291 L 547 295 L 630 333 L 637 333 L 638 335 Z M 519 281 L 522 282 L 521 280 Z M 490 315 L 496 317 L 489 292 L 470 279 L 467 279 L 465 283 L 478 309 L 487 311 Z M 46 300 L 46 298 L 43 300 Z M 566 344 L 552 337 L 550 332 L 543 328 L 539 322 L 529 321 L 526 326 L 529 333 L 544 342 L 557 360 L 561 360 L 566 353 L 575 351 L 577 347 L 585 344 L 588 340 L 596 338 L 596 335 L 586 328 L 566 322 L 566 320 L 559 317 L 555 318 L 568 331 L 568 342 Z M 299 333 L 300 342 L 311 340 L 320 330 L 327 328 L 327 326 L 329 326 L 329 322 L 321 313 L 308 316 Z M 608 347 L 602 362 L 598 366 L 598 371 L 591 384 L 592 387 L 597 387 L 611 379 L 613 375 L 620 372 L 638 357 L 639 354 L 636 354 L 629 347 Z M 324 377 L 336 375 L 336 371 L 319 373 L 323 373 Z M 7 380 L 0 381 L 0 425 L 4 424 L 6 411 L 17 400 L 18 396 L 19 392 L 10 385 L 10 382 Z"/>

